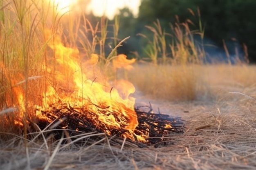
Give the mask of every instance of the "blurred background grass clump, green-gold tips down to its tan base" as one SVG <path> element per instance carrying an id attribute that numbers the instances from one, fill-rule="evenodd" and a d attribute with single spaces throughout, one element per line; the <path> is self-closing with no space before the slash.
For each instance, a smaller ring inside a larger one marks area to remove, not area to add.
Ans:
<path id="1" fill-rule="evenodd" d="M 153 33 L 152 37 L 147 37 L 142 33 L 138 34 L 149 42 L 144 50 L 154 67 L 144 66 L 144 71 L 138 67 L 136 68 L 137 74 L 130 72 L 129 78 L 144 93 L 168 100 L 196 98 L 199 77 L 193 70 L 198 64 L 205 62 L 204 28 L 200 10 L 198 9 L 197 16 L 191 9 L 189 11 L 193 17 L 198 19 L 198 29 L 191 30 L 191 26 L 195 24 L 189 19 L 180 22 L 176 15 L 176 22 L 170 23 L 170 33 L 164 31 L 160 21 L 157 20 L 153 26 L 146 26 Z M 200 41 L 195 38 L 198 35 Z"/>

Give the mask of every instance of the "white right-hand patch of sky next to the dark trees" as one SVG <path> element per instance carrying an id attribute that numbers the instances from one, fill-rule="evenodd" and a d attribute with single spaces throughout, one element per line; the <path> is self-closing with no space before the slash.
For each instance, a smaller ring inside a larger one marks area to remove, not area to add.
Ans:
<path id="1" fill-rule="evenodd" d="M 96 16 L 102 16 L 103 13 L 110 19 L 124 7 L 128 7 L 132 13 L 137 16 L 141 0 L 92 0 L 89 9 Z"/>

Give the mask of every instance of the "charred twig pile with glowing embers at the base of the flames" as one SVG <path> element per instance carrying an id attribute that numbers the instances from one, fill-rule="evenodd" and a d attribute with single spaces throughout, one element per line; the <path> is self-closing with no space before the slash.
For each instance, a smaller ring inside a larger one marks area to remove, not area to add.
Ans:
<path id="1" fill-rule="evenodd" d="M 46 110 L 38 111 L 47 117 L 50 121 L 58 120 L 61 122 L 58 127 L 70 131 L 71 135 L 77 135 L 79 132 L 105 132 L 108 135 L 116 135 L 117 137 L 128 137 L 130 140 L 143 141 L 147 144 L 156 144 L 163 141 L 164 136 L 168 136 L 167 132 L 182 132 L 178 129 L 182 121 L 180 118 L 171 118 L 169 115 L 152 113 L 151 106 L 149 111 L 141 111 L 140 108 L 135 109 L 137 113 L 138 126 L 130 133 L 126 125 L 128 117 L 120 117 L 117 113 L 108 110 L 109 107 L 98 108 L 97 113 L 90 111 L 86 106 L 76 106 L 70 104 L 53 104 Z M 106 119 L 101 117 L 112 117 L 116 122 L 120 122 L 119 128 L 115 128 L 111 123 L 106 123 Z M 132 134 L 132 137 L 130 136 Z"/>

